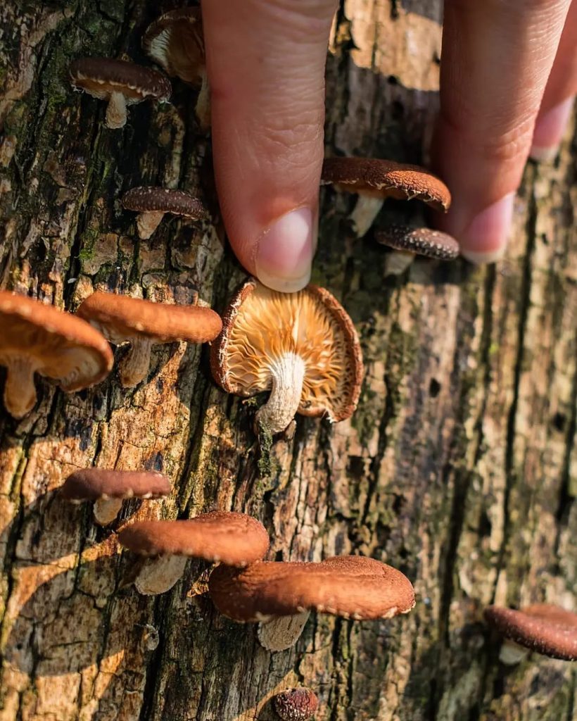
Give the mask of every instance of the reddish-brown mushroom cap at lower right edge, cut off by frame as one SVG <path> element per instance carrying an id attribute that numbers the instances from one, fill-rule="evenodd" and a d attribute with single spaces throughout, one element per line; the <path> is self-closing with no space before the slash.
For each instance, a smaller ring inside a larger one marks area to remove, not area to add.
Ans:
<path id="1" fill-rule="evenodd" d="M 577 614 L 536 603 L 520 611 L 488 606 L 486 622 L 504 637 L 551 658 L 577 660 Z"/>

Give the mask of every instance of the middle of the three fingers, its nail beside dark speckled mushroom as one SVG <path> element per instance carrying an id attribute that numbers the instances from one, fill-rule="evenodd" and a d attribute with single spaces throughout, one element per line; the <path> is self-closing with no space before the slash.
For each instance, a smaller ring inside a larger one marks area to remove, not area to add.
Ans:
<path id="1" fill-rule="evenodd" d="M 434 156 L 453 193 L 444 229 L 475 262 L 504 252 L 568 7 L 569 0 L 445 0 Z"/>

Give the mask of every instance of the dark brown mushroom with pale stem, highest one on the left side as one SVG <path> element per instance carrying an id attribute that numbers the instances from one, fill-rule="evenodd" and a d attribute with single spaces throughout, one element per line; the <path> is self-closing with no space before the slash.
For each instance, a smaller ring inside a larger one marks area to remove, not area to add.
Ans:
<path id="1" fill-rule="evenodd" d="M 75 90 L 108 101 L 107 128 L 124 128 L 127 105 L 146 99 L 168 102 L 171 84 L 156 70 L 113 58 L 79 58 L 71 63 Z"/>

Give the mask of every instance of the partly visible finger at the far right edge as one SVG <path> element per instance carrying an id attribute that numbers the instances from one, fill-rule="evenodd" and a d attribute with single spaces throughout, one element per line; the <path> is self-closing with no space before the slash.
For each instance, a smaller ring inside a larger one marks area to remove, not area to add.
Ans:
<path id="1" fill-rule="evenodd" d="M 576 94 L 577 0 L 573 0 L 535 124 L 530 153 L 533 160 L 550 161 L 557 155 Z"/>

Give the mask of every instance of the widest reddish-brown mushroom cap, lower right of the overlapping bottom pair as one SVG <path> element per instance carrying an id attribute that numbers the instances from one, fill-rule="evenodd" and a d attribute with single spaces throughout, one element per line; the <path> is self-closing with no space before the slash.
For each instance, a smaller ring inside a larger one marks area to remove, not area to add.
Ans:
<path id="1" fill-rule="evenodd" d="M 415 605 L 401 571 L 372 558 L 341 556 L 321 563 L 254 563 L 245 570 L 219 566 L 208 589 L 221 614 L 239 622 L 321 611 L 352 619 L 388 619 Z"/>

